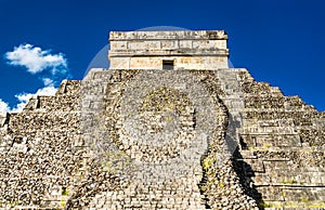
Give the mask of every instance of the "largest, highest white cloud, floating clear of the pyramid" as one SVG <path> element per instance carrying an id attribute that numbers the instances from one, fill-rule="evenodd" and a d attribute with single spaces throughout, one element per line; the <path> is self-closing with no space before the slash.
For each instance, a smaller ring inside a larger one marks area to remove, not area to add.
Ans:
<path id="1" fill-rule="evenodd" d="M 24 66 L 28 73 L 37 74 L 50 69 L 52 75 L 57 71 L 66 73 L 67 61 L 64 54 L 50 54 L 51 50 L 42 50 L 39 47 L 26 43 L 15 47 L 12 52 L 6 52 L 4 57 L 13 66 Z"/>

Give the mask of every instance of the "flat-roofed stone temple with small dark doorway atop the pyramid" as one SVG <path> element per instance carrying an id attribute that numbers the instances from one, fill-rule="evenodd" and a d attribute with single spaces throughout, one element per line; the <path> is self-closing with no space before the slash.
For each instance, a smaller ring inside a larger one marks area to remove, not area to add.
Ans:
<path id="1" fill-rule="evenodd" d="M 227 68 L 224 30 L 112 31 L 110 69 Z"/>

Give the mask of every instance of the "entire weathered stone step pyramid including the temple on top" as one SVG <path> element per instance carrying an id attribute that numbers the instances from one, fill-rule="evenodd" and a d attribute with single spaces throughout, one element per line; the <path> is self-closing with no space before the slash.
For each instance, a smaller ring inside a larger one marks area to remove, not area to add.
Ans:
<path id="1" fill-rule="evenodd" d="M 0 207 L 324 209 L 325 114 L 224 31 L 110 32 L 109 69 L 0 115 Z"/>

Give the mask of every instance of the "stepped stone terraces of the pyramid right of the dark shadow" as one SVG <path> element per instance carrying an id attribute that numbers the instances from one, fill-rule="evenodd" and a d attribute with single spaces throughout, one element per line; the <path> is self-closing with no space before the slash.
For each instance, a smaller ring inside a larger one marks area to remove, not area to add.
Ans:
<path id="1" fill-rule="evenodd" d="M 247 70 L 238 75 L 245 107 L 236 161 L 260 193 L 259 206 L 324 208 L 325 119 L 301 99 L 253 81 Z"/>

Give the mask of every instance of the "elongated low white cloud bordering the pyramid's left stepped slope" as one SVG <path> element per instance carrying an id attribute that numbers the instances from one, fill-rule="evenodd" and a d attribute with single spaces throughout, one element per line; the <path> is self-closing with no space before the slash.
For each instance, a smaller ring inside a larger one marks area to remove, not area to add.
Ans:
<path id="1" fill-rule="evenodd" d="M 9 109 L 11 113 L 21 113 L 23 108 L 28 103 L 29 99 L 36 95 L 54 95 L 57 89 L 54 87 L 44 87 L 42 89 L 39 89 L 36 93 L 21 93 L 15 95 L 15 97 L 20 101 L 20 103 L 16 105 L 16 107 Z"/>

